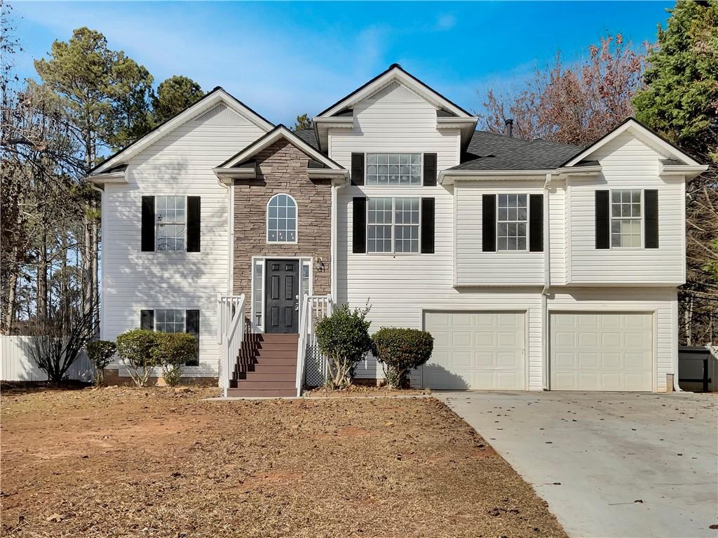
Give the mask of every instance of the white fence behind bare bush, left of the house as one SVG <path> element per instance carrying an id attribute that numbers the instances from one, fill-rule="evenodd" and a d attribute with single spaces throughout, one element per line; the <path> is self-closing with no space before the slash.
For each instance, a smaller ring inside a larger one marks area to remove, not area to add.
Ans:
<path id="1" fill-rule="evenodd" d="M 0 335 L 0 379 L 2 381 L 47 381 L 47 374 L 32 360 L 32 336 Z M 92 366 L 84 351 L 67 370 L 69 379 L 92 381 Z"/>

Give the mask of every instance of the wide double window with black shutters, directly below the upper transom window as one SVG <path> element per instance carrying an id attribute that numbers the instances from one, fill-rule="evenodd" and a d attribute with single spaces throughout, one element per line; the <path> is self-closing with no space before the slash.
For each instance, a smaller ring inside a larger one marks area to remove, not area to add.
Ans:
<path id="1" fill-rule="evenodd" d="M 367 251 L 419 252 L 419 198 L 370 198 L 367 205 Z"/>

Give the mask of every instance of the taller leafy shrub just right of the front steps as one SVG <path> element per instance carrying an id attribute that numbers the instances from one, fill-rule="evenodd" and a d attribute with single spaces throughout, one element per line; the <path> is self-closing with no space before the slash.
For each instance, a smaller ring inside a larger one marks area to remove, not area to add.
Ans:
<path id="1" fill-rule="evenodd" d="M 368 307 L 352 310 L 349 305 L 342 305 L 317 323 L 317 343 L 329 359 L 327 383 L 332 388 L 351 384 L 354 368 L 371 350 L 368 313 Z"/>

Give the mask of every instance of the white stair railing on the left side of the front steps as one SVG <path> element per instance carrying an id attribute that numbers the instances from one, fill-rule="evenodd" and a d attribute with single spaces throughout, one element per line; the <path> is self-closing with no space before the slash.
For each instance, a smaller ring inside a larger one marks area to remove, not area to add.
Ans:
<path id="1" fill-rule="evenodd" d="M 217 342 L 220 344 L 220 383 L 225 397 L 244 340 L 244 295 L 217 295 Z"/>

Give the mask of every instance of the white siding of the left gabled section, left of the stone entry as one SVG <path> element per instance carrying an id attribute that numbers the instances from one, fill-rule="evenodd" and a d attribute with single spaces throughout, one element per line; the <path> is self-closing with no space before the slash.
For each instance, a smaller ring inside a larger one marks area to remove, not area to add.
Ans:
<path id="1" fill-rule="evenodd" d="M 199 114 L 198 114 L 199 115 Z M 187 376 L 218 376 L 217 294 L 228 292 L 228 190 L 212 172 L 264 134 L 227 107 L 190 119 L 129 162 L 128 185 L 103 194 L 103 338 L 139 326 L 141 309 L 201 310 L 200 364 Z M 141 252 L 141 197 L 202 197 L 202 251 Z M 118 362 L 110 368 L 123 368 Z"/>

